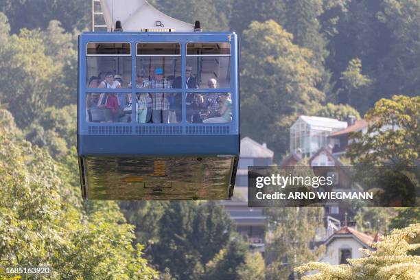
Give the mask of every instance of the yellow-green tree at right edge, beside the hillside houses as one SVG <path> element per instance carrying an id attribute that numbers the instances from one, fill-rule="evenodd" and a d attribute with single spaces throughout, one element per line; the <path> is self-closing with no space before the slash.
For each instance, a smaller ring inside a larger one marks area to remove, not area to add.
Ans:
<path id="1" fill-rule="evenodd" d="M 413 167 L 420 155 L 420 97 L 394 95 L 366 113 L 369 128 L 353 135 L 348 155 L 353 163 L 380 166 L 392 163 Z"/>

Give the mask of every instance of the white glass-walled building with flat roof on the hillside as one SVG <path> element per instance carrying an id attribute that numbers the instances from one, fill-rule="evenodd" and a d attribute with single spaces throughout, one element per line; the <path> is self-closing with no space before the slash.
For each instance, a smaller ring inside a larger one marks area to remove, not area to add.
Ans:
<path id="1" fill-rule="evenodd" d="M 300 149 L 303 156 L 313 156 L 320 148 L 327 147 L 331 133 L 345 128 L 346 121 L 301 116 L 290 127 L 290 154 Z"/>

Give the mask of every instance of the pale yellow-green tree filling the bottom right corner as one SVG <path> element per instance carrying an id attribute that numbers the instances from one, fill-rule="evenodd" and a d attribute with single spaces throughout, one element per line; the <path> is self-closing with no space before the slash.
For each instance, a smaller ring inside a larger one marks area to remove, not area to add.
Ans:
<path id="1" fill-rule="evenodd" d="M 402 279 L 415 280 L 420 277 L 420 256 L 412 252 L 420 248 L 420 224 L 412 224 L 404 229 L 395 229 L 382 242 L 373 244 L 376 250 L 363 250 L 364 257 L 348 259 L 349 264 L 310 262 L 296 268 L 303 274 L 316 270 L 313 275 L 303 276 L 303 280 L 339 279 Z"/>

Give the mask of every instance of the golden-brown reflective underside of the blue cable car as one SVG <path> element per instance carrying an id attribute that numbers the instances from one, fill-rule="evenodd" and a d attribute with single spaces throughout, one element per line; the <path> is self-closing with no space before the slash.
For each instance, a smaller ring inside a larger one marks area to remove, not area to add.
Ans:
<path id="1" fill-rule="evenodd" d="M 222 200 L 229 198 L 233 156 L 88 157 L 89 200 Z"/>

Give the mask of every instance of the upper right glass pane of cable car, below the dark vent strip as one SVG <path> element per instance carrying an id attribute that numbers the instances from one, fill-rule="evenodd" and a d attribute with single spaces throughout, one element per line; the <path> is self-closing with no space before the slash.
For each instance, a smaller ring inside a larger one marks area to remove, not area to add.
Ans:
<path id="1" fill-rule="evenodd" d="M 231 58 L 229 56 L 198 56 L 187 58 L 187 71 L 196 79 L 198 88 L 226 89 L 231 87 Z M 187 77 L 189 73 L 186 73 Z"/>

